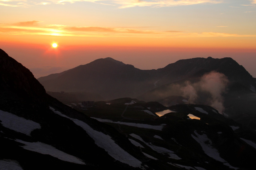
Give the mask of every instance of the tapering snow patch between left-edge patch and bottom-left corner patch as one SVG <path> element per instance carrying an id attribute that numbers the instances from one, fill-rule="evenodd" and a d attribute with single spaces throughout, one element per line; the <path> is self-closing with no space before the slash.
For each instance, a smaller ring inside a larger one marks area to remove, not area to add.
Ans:
<path id="1" fill-rule="evenodd" d="M 26 150 L 30 150 L 33 152 L 38 152 L 41 154 L 49 154 L 55 158 L 58 158 L 60 160 L 66 161 L 66 162 L 72 162 L 76 164 L 85 164 L 82 160 L 79 158 L 72 156 L 70 154 L 67 154 L 65 152 L 62 152 L 61 150 L 58 150 L 51 145 L 47 145 L 45 143 L 41 142 L 25 142 L 20 139 L 16 139 L 16 142 L 23 143 L 25 146 L 22 146 Z"/>

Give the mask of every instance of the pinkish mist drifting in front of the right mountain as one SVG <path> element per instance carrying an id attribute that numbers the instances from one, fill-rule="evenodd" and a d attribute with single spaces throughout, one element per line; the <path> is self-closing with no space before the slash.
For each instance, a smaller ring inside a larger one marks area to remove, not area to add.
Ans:
<path id="1" fill-rule="evenodd" d="M 214 107 L 222 113 L 224 111 L 224 94 L 227 90 L 228 78 L 220 72 L 209 72 L 195 82 L 185 81 L 168 86 L 164 92 L 156 91 L 156 96 L 182 96 L 190 104 L 205 104 Z"/>

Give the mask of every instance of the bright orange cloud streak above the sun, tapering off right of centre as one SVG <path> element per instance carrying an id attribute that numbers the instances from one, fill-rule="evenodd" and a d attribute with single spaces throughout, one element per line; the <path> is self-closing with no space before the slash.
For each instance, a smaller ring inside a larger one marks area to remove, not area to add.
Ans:
<path id="1" fill-rule="evenodd" d="M 0 32 L 9 34 L 42 34 L 60 36 L 102 36 L 105 33 L 115 34 L 160 34 L 163 32 L 145 29 L 114 27 L 73 27 L 67 25 L 39 25 L 40 21 L 24 21 L 13 24 L 1 24 Z M 104 34 L 102 34 L 104 33 Z"/>

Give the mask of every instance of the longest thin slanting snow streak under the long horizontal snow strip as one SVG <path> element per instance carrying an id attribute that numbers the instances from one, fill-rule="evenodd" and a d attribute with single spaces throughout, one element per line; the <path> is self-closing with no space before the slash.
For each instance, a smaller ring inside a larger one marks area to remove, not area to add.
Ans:
<path id="1" fill-rule="evenodd" d="M 145 143 L 146 145 L 148 145 L 151 149 L 155 150 L 156 152 L 158 153 L 166 153 L 166 154 L 169 154 L 169 158 L 172 158 L 172 159 L 177 159 L 177 160 L 180 160 L 181 158 L 174 154 L 174 152 L 172 150 L 169 150 L 169 149 L 166 149 L 166 148 L 163 148 L 163 147 L 158 147 L 158 146 L 155 146 L 155 145 L 152 145 L 152 143 L 146 143 L 139 135 L 136 135 L 134 133 L 130 134 L 130 136 L 134 137 L 135 139 L 138 139 L 140 141 L 142 141 L 143 143 Z"/>

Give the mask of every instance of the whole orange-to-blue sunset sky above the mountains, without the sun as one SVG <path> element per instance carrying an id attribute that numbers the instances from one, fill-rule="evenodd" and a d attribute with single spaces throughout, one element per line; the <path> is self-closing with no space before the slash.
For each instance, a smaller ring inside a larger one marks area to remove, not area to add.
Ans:
<path id="1" fill-rule="evenodd" d="M 256 0 L 0 0 L 0 16 L 0 49 L 36 78 L 98 58 L 156 69 L 209 56 L 256 77 Z"/>

